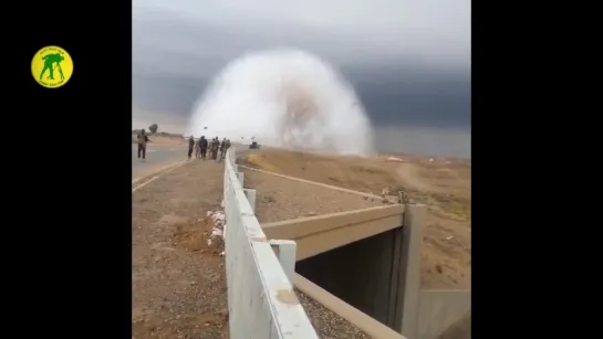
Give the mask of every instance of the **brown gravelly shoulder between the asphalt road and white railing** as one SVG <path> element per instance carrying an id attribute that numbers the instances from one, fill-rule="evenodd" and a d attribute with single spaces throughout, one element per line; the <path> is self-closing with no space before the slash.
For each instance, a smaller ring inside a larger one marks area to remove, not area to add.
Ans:
<path id="1" fill-rule="evenodd" d="M 220 244 L 208 246 L 223 166 L 189 163 L 132 197 L 133 338 L 228 338 Z"/>

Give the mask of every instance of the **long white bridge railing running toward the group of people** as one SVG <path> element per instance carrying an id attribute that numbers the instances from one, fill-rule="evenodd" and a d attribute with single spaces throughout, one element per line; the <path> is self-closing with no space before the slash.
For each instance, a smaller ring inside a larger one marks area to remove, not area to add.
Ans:
<path id="1" fill-rule="evenodd" d="M 223 181 L 230 338 L 318 339 L 240 179 L 231 147 L 225 159 Z"/>

